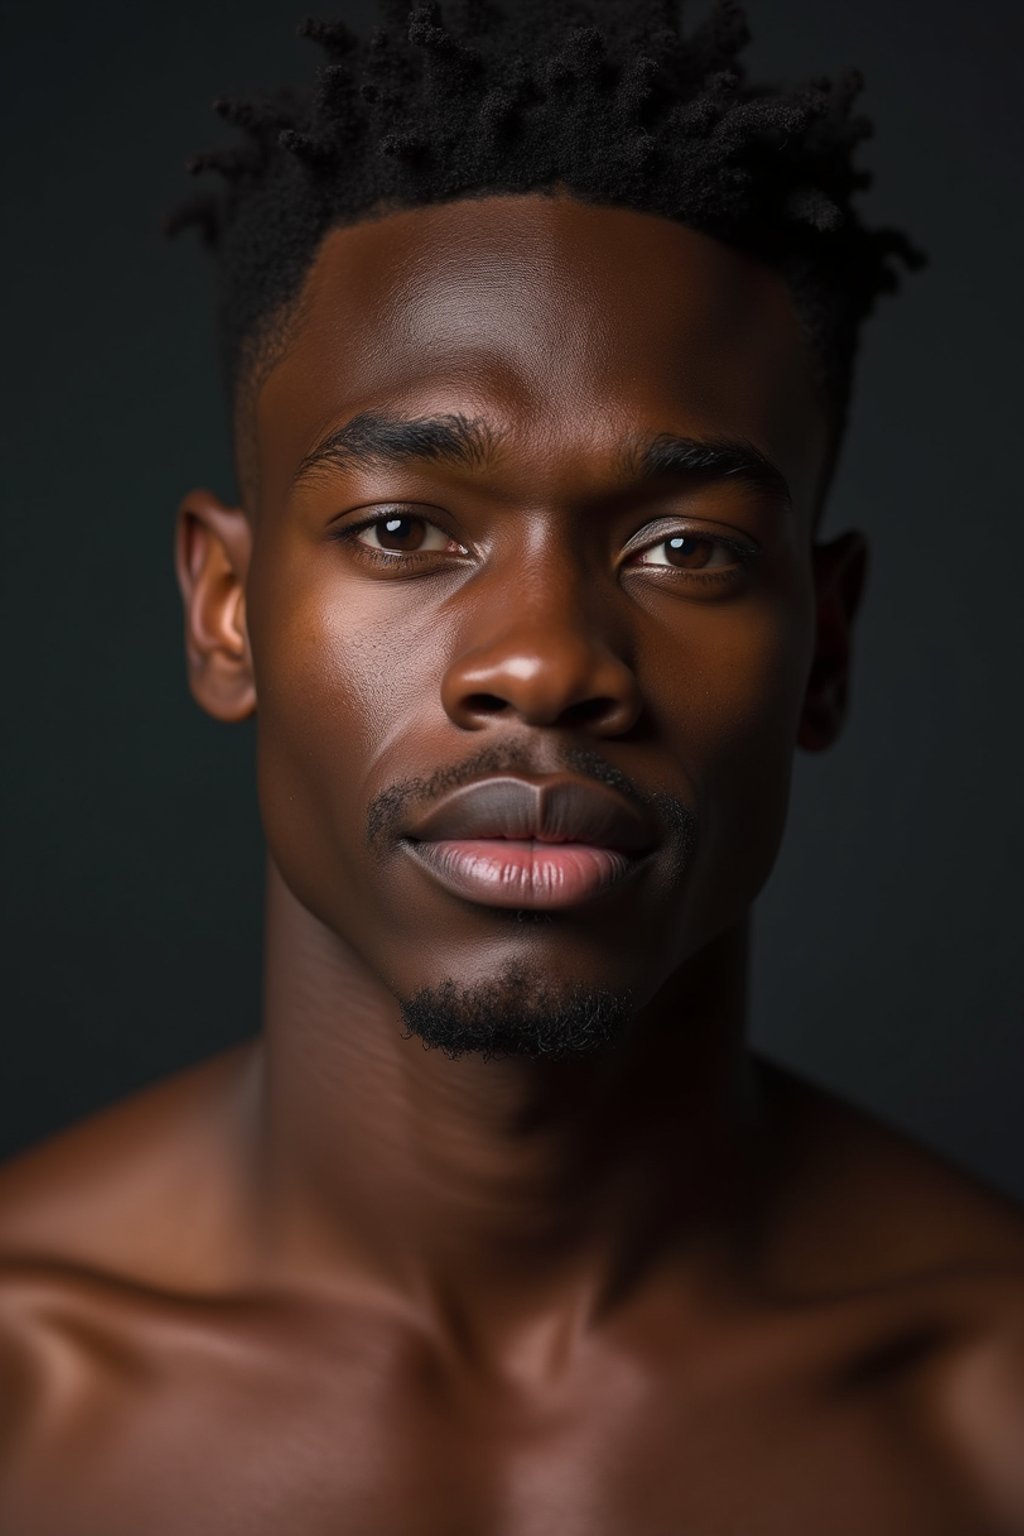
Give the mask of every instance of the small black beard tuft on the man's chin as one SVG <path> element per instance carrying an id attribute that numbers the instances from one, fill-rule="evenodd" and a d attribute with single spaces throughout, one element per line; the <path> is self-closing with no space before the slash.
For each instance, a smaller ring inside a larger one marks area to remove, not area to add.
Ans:
<path id="1" fill-rule="evenodd" d="M 633 991 L 567 982 L 551 986 L 522 960 L 510 960 L 485 982 L 447 977 L 401 1000 L 407 1032 L 448 1060 L 476 1052 L 485 1061 L 531 1057 L 567 1061 L 593 1055 L 622 1038 L 633 1018 Z"/>

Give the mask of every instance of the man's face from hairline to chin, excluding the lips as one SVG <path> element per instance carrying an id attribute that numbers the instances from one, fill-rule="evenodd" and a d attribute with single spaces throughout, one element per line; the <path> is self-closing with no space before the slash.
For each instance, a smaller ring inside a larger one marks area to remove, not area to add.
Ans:
<path id="1" fill-rule="evenodd" d="M 415 453 L 401 424 L 436 418 Z M 292 892 L 402 1001 L 643 1006 L 743 919 L 785 822 L 827 429 L 781 280 L 563 197 L 390 214 L 325 238 L 255 432 L 244 614 Z M 565 771 L 657 833 L 586 900 L 457 895 L 402 839 L 453 786 Z"/>

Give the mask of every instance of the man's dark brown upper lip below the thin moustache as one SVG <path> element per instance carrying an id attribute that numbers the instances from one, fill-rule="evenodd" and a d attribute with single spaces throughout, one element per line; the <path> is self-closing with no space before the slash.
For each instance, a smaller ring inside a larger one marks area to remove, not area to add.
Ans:
<path id="1" fill-rule="evenodd" d="M 556 776 L 533 783 L 513 776 L 482 779 L 445 796 L 405 833 L 418 842 L 442 837 L 517 837 L 545 843 L 591 843 L 646 852 L 656 842 L 648 819 L 588 779 Z"/>

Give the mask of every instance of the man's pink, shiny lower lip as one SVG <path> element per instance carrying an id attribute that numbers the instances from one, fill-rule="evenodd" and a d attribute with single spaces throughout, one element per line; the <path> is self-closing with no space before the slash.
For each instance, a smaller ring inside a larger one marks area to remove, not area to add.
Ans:
<path id="1" fill-rule="evenodd" d="M 405 846 L 453 895 L 487 906 L 576 906 L 616 885 L 639 863 L 629 854 L 590 843 L 487 837 Z"/>

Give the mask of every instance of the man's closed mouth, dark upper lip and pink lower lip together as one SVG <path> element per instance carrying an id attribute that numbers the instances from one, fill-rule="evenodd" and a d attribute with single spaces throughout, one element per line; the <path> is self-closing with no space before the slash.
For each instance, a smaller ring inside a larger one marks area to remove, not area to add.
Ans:
<path id="1" fill-rule="evenodd" d="M 654 828 L 588 780 L 488 779 L 448 796 L 402 839 L 453 895 L 487 906 L 579 906 L 629 879 Z"/>

